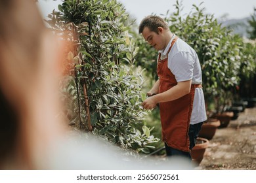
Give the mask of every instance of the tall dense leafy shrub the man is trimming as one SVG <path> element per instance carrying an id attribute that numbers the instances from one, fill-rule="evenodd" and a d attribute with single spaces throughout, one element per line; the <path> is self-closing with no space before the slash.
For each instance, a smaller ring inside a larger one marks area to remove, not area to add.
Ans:
<path id="1" fill-rule="evenodd" d="M 159 139 L 150 135 L 152 129 L 136 128 L 146 114 L 140 105 L 146 96 L 141 92 L 142 71 L 135 73 L 133 67 L 138 48 L 123 23 L 128 17 L 123 6 L 107 0 L 67 0 L 58 10 L 47 22 L 56 33 L 68 31 L 75 46 L 68 54 L 75 64 L 73 75 L 64 88 L 70 95 L 70 122 L 83 130 L 91 122 L 94 134 L 125 148 L 154 148 L 148 144 Z"/>

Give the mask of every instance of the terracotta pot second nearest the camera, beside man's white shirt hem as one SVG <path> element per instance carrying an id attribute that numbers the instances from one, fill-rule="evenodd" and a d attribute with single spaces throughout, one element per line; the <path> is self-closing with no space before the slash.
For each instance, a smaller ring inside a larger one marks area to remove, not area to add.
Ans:
<path id="1" fill-rule="evenodd" d="M 211 140 L 215 135 L 217 127 L 221 125 L 220 120 L 215 118 L 209 118 L 206 122 L 203 122 L 202 128 L 199 132 L 199 137 Z"/>

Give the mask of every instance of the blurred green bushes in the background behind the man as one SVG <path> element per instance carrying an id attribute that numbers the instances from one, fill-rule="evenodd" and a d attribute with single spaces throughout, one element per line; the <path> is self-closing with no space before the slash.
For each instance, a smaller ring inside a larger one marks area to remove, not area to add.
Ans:
<path id="1" fill-rule="evenodd" d="M 202 3 L 199 6 L 193 5 L 192 11 L 185 18 L 181 16 L 181 3 L 177 1 L 174 6 L 176 11 L 167 14 L 165 21 L 173 33 L 198 53 L 205 101 L 209 105 L 218 101 L 220 108 L 215 108 L 218 112 L 233 100 L 232 93 L 240 84 L 241 76 L 253 75 L 253 48 L 246 46 L 243 39 L 232 34 L 230 29 L 222 27 L 213 15 L 205 14 L 204 8 L 201 8 Z M 140 52 L 143 52 L 137 55 L 137 65 L 145 67 L 152 78 L 156 78 L 156 61 L 152 60 L 157 59 L 158 53 L 152 52 L 146 42 L 143 45 L 140 37 L 137 45 L 140 46 Z"/>

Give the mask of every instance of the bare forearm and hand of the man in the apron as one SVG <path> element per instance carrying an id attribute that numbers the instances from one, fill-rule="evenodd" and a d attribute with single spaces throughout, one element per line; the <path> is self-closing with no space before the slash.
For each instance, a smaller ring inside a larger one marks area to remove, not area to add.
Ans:
<path id="1" fill-rule="evenodd" d="M 148 97 L 142 103 L 142 107 L 145 109 L 152 109 L 152 108 L 156 107 L 157 103 L 163 103 L 163 102 L 179 99 L 179 98 L 183 97 L 184 95 L 190 93 L 191 84 L 192 84 L 192 80 L 178 82 L 176 86 L 173 86 L 173 88 L 170 88 L 169 90 L 167 90 L 163 93 L 153 95 L 152 97 Z M 159 87 L 159 85 L 158 85 L 158 87 Z"/>

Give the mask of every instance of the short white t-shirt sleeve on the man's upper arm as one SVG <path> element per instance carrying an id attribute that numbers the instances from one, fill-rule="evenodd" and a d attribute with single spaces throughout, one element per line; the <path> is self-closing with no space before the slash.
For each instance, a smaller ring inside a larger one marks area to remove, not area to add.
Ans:
<path id="1" fill-rule="evenodd" d="M 175 75 L 177 82 L 191 80 L 194 70 L 194 57 L 188 52 L 179 52 L 168 59 L 168 68 Z"/>

